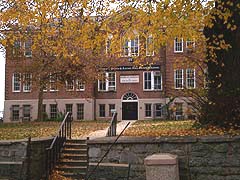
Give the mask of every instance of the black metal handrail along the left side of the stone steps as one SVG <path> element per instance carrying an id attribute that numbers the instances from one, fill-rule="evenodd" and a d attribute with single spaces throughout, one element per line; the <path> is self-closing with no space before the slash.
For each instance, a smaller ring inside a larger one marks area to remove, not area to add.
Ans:
<path id="1" fill-rule="evenodd" d="M 71 139 L 71 118 L 72 114 L 67 112 L 65 115 L 59 130 L 57 131 L 57 135 L 54 137 L 51 145 L 46 148 L 46 178 L 49 178 L 53 168 L 60 158 L 61 150 L 66 142 L 67 138 Z"/>

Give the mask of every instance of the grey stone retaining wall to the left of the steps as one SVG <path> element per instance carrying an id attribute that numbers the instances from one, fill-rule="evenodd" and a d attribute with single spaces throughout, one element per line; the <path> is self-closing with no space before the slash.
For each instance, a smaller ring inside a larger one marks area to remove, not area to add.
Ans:
<path id="1" fill-rule="evenodd" d="M 0 178 L 26 179 L 27 141 L 27 139 L 0 141 Z M 45 149 L 51 142 L 52 138 L 32 139 L 29 179 L 39 180 L 45 173 Z"/>

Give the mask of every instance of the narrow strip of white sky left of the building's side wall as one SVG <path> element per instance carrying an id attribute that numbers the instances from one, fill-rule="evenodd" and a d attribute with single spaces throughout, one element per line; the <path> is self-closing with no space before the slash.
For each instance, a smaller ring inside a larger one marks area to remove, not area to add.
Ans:
<path id="1" fill-rule="evenodd" d="M 5 57 L 0 51 L 0 111 L 4 109 L 4 90 L 5 90 Z M 0 117 L 1 117 L 0 113 Z"/>

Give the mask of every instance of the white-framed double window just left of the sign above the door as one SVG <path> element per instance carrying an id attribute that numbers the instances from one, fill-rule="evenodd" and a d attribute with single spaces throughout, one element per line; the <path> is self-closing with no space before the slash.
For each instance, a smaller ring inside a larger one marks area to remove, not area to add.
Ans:
<path id="1" fill-rule="evenodd" d="M 103 73 L 102 79 L 98 81 L 99 91 L 115 91 L 116 90 L 116 73 Z"/>

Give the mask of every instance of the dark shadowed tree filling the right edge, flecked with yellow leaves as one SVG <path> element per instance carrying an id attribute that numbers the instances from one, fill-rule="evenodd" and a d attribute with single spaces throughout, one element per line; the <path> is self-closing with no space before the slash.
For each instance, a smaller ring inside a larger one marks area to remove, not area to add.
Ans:
<path id="1" fill-rule="evenodd" d="M 209 90 L 201 122 L 240 125 L 240 2 L 215 3 L 204 31 Z"/>

